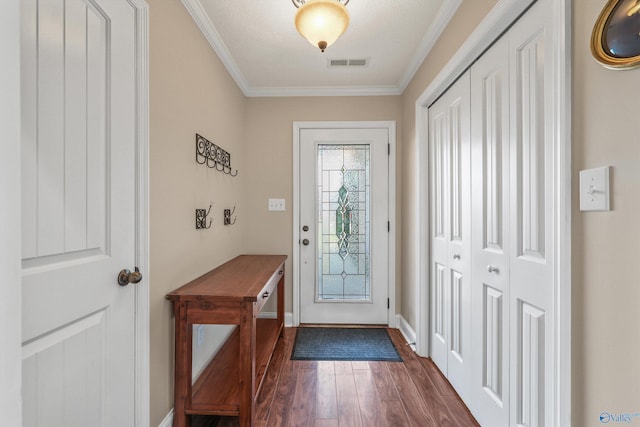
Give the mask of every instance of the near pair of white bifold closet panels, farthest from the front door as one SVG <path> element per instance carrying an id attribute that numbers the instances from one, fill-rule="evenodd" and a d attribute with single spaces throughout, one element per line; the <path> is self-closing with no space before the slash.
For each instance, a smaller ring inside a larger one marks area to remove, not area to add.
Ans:
<path id="1" fill-rule="evenodd" d="M 549 0 L 471 68 L 472 357 L 481 425 L 553 425 L 554 114 Z"/>

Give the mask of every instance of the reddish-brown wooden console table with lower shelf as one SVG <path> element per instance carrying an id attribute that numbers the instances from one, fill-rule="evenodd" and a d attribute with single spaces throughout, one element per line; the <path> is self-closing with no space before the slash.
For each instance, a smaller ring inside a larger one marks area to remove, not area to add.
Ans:
<path id="1" fill-rule="evenodd" d="M 286 255 L 240 255 L 167 295 L 175 314 L 174 427 L 190 414 L 234 415 L 254 425 L 255 400 L 284 327 Z M 277 318 L 258 313 L 277 289 Z M 194 324 L 238 325 L 191 384 Z"/>

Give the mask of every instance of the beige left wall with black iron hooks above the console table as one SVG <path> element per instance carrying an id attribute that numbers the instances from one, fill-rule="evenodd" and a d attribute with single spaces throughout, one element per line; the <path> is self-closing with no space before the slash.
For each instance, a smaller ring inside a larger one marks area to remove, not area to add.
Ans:
<path id="1" fill-rule="evenodd" d="M 180 1 L 151 0 L 149 7 L 151 425 L 157 426 L 173 407 L 173 315 L 165 295 L 244 251 L 248 168 L 245 97 Z M 237 177 L 196 164 L 196 132 L 231 153 Z M 195 209 L 210 202 L 213 226 L 195 230 Z M 234 204 L 238 222 L 222 225 L 222 210 Z"/>

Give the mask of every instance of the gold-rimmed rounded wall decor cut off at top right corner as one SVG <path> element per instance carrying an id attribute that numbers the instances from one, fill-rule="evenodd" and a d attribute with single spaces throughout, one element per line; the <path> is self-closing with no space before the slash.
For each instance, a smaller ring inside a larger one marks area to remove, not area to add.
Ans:
<path id="1" fill-rule="evenodd" d="M 640 66 L 640 0 L 608 0 L 591 33 L 591 53 L 614 70 Z"/>

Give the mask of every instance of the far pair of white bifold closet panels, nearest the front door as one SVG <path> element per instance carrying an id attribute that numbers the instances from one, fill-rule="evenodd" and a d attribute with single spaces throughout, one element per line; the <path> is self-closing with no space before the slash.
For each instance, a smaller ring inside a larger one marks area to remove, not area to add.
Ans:
<path id="1" fill-rule="evenodd" d="M 469 72 L 429 108 L 432 358 L 465 399 L 470 384 Z"/>

